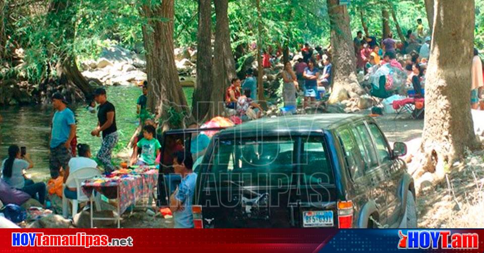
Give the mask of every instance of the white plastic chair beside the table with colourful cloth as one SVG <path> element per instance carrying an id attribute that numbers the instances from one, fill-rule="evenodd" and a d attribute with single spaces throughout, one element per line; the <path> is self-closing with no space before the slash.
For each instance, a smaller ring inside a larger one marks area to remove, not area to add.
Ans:
<path id="1" fill-rule="evenodd" d="M 98 175 L 101 175 L 101 172 L 97 168 L 89 168 L 89 167 L 87 167 L 87 168 L 81 168 L 81 169 L 78 169 L 78 170 L 74 171 L 73 173 L 69 173 L 69 177 L 67 178 L 67 181 L 63 185 L 63 189 L 62 189 L 62 215 L 65 218 L 68 218 L 67 217 L 67 207 L 68 207 L 67 205 L 68 205 L 68 201 L 71 202 L 71 204 L 72 204 L 72 217 L 73 218 L 74 218 L 74 215 L 76 215 L 77 212 L 78 212 L 79 203 L 83 203 L 83 202 L 88 202 L 89 201 L 89 198 L 82 191 L 82 188 L 81 188 L 82 185 L 81 184 L 85 180 L 91 179 L 91 178 L 93 178 L 95 176 L 98 176 Z M 66 196 L 64 194 L 65 188 L 72 181 L 74 181 L 75 184 L 76 184 L 77 200 L 68 199 L 68 198 L 66 198 Z M 92 194 L 94 194 L 94 191 L 93 191 Z M 95 195 L 96 210 L 100 210 L 101 209 L 101 202 L 100 202 L 100 200 L 101 200 L 100 194 L 96 194 Z"/>

